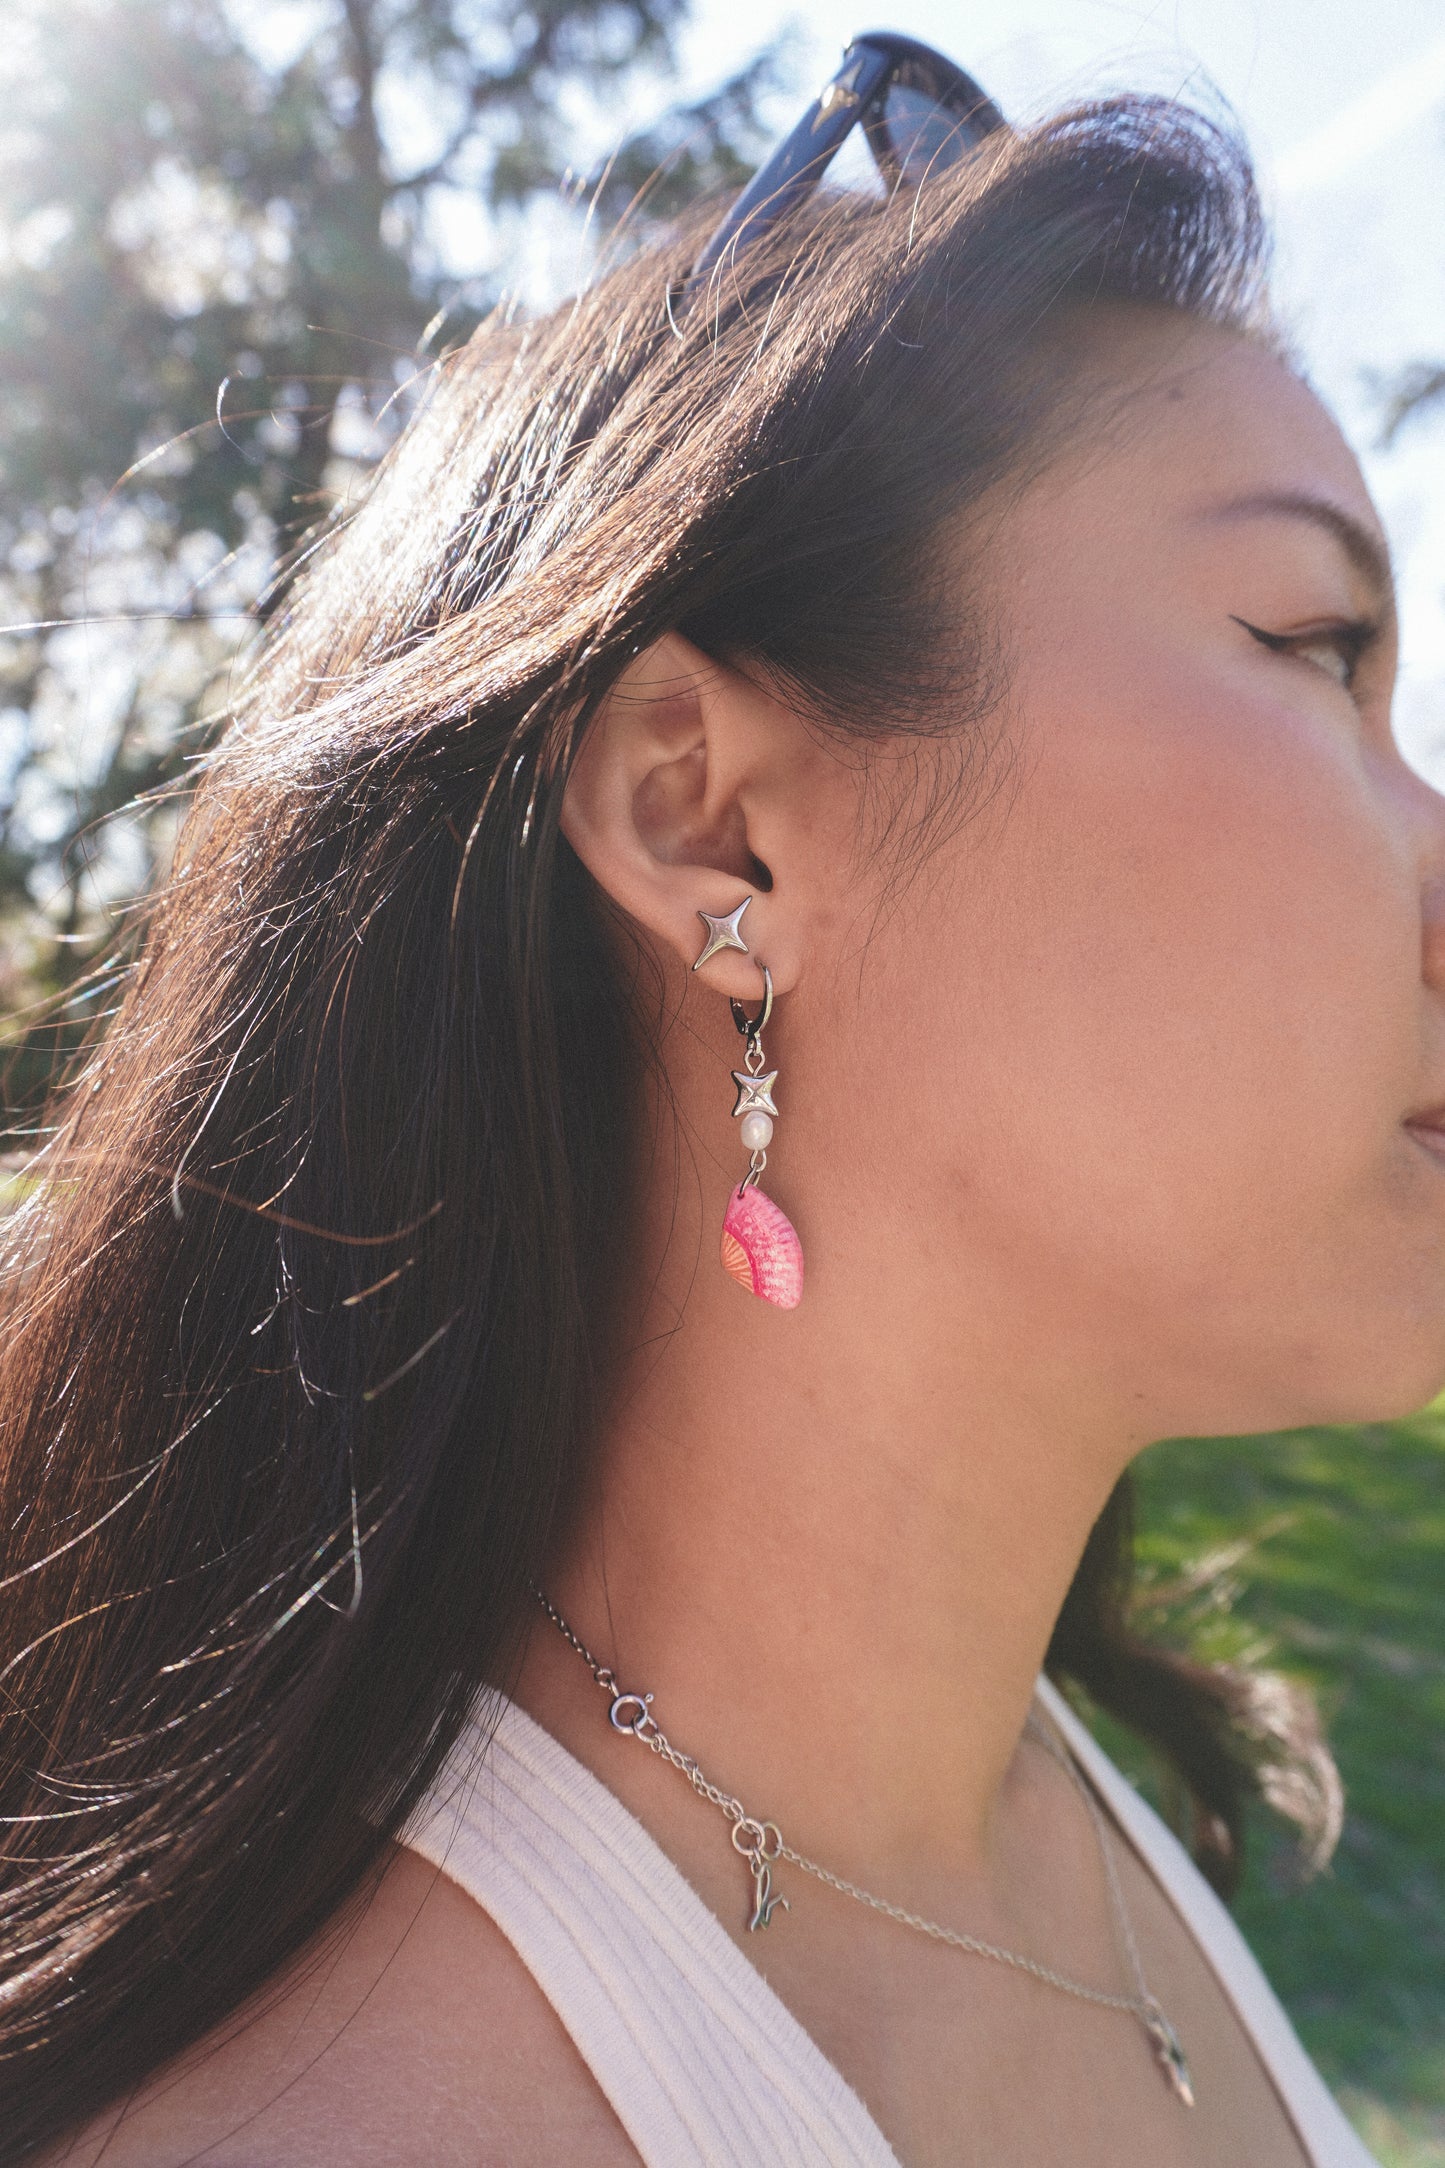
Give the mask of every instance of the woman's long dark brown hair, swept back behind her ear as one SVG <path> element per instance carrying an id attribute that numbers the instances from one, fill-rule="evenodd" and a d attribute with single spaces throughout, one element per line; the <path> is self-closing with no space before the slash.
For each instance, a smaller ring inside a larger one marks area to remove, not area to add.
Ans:
<path id="1" fill-rule="evenodd" d="M 927 579 L 942 522 L 1057 434 L 1072 312 L 1259 310 L 1241 152 L 1153 102 L 821 202 L 678 325 L 695 241 L 438 369 L 277 611 L 11 1229 L 6 2161 L 273 1977 L 509 1676 L 594 1429 L 646 1006 L 557 826 L 617 672 L 680 627 L 854 741 L 947 713 L 951 813 L 997 672 Z M 1051 1667 L 1172 1756 L 1228 1882 L 1278 1737 L 1315 1799 L 1328 1763 L 1137 1637 L 1127 1518 Z"/>

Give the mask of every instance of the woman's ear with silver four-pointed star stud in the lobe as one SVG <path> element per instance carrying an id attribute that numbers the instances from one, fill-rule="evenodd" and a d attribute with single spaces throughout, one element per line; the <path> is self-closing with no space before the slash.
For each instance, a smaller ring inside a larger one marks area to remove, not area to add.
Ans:
<path id="1" fill-rule="evenodd" d="M 561 828 L 594 880 L 689 967 L 700 911 L 732 913 L 747 954 L 719 950 L 702 978 L 756 1002 L 760 967 L 797 984 L 817 895 L 819 785 L 832 759 L 782 700 L 680 633 L 622 674 L 572 765 Z M 836 863 L 836 861 L 834 861 Z"/>

